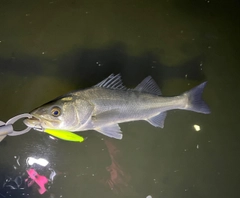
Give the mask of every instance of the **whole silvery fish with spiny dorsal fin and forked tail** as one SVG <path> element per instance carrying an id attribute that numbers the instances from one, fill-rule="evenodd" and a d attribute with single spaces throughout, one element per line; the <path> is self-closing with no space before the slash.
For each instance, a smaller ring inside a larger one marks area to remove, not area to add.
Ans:
<path id="1" fill-rule="evenodd" d="M 145 120 L 164 127 L 167 111 L 182 109 L 209 114 L 202 99 L 207 82 L 178 96 L 164 97 L 151 76 L 135 88 L 123 85 L 121 75 L 111 74 L 98 84 L 69 92 L 34 109 L 24 123 L 37 130 L 71 132 L 95 130 L 105 136 L 122 139 L 119 123 Z"/>

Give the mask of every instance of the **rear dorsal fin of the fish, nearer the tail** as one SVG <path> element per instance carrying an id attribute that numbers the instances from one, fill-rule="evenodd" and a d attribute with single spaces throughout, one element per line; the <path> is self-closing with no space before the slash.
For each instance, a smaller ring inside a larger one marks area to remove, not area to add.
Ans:
<path id="1" fill-rule="evenodd" d="M 151 76 L 146 77 L 138 86 L 135 87 L 135 91 L 150 93 L 154 95 L 162 95 L 157 83 Z"/>

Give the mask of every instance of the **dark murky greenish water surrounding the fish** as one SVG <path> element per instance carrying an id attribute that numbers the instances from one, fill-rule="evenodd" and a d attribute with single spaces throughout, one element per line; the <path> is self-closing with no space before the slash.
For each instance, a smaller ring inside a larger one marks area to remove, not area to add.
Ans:
<path id="1" fill-rule="evenodd" d="M 83 143 L 34 130 L 7 137 L 0 198 L 238 197 L 239 7 L 237 0 L 2 0 L 0 120 L 111 73 L 131 88 L 151 75 L 166 96 L 207 80 L 212 113 L 171 111 L 164 129 L 121 124 L 121 141 L 94 131 L 81 133 Z M 32 163 L 39 158 L 48 164 Z M 48 179 L 45 193 L 30 169 Z"/>

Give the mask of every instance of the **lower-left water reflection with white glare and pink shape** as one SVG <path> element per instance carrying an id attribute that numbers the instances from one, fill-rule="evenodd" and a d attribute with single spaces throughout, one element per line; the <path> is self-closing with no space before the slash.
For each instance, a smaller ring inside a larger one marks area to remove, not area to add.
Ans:
<path id="1" fill-rule="evenodd" d="M 44 158 L 27 157 L 26 164 L 20 164 L 20 156 L 14 156 L 16 164 L 14 173 L 5 176 L 0 197 L 28 197 L 31 194 L 44 194 L 53 184 L 56 171 L 50 167 Z M 47 168 L 42 169 L 42 167 Z M 24 170 L 24 171 L 22 171 Z M 41 173 L 41 174 L 40 174 Z"/>

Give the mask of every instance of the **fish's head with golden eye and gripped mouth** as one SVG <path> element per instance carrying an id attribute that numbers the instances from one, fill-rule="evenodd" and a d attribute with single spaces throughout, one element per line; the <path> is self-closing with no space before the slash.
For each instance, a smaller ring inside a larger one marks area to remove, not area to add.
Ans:
<path id="1" fill-rule="evenodd" d="M 30 112 L 32 118 L 24 123 L 31 128 L 70 130 L 77 123 L 76 109 L 71 96 L 50 101 Z"/>

